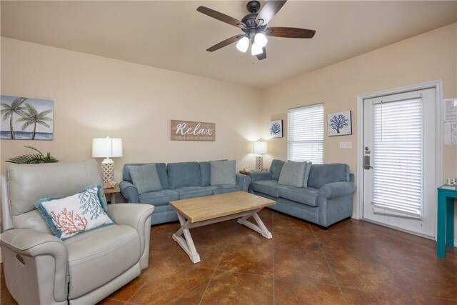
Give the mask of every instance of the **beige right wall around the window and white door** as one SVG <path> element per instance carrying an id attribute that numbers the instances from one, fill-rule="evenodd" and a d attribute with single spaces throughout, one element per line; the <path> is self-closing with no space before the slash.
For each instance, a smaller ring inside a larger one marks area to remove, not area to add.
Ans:
<path id="1" fill-rule="evenodd" d="M 353 132 L 351 136 L 328 137 L 325 130 L 324 161 L 347 163 L 351 171 L 356 172 L 357 96 L 436 80 L 443 81 L 443 99 L 457 98 L 457 24 L 273 86 L 263 91 L 262 136 L 268 137 L 268 122 L 275 119 L 284 120 L 285 132 L 282 139 L 269 140 L 265 163 L 269 165 L 271 159 L 287 158 L 287 110 L 324 103 L 325 117 L 329 113 L 351 110 Z M 353 148 L 339 149 L 340 141 L 352 141 Z M 443 182 L 445 177 L 457 177 L 457 146 L 443 146 Z M 457 224 L 457 215 L 455 217 Z"/>

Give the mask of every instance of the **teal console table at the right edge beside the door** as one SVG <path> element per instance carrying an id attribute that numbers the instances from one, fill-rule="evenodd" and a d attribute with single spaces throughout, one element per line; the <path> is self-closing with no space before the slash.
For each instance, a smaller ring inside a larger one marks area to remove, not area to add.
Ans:
<path id="1" fill-rule="evenodd" d="M 438 187 L 438 224 L 436 233 L 436 256 L 446 258 L 446 246 L 454 246 L 454 199 L 455 186 Z"/>

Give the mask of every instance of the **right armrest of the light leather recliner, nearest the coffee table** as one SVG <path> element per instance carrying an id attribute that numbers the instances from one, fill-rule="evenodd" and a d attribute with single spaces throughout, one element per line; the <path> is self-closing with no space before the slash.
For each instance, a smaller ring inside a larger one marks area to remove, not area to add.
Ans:
<path id="1" fill-rule="evenodd" d="M 107 214 L 116 221 L 116 224 L 126 224 L 138 231 L 141 246 L 141 269 L 148 266 L 151 215 L 154 208 L 151 204 L 110 204 L 108 206 Z"/>

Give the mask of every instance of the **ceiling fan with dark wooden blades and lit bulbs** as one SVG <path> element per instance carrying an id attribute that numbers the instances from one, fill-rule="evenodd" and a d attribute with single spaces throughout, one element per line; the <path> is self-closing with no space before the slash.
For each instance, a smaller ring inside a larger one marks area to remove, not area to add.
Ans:
<path id="1" fill-rule="evenodd" d="M 214 9 L 209 9 L 206 6 L 199 6 L 197 11 L 240 28 L 244 34 L 235 35 L 211 46 L 206 51 L 212 52 L 236 43 L 236 49 L 242 52 L 246 52 L 251 45 L 251 55 L 256 55 L 258 60 L 266 59 L 266 43 L 268 42 L 266 36 L 273 37 L 285 37 L 285 38 L 313 38 L 316 31 L 310 29 L 298 29 L 298 28 L 287 28 L 287 27 L 270 27 L 267 28 L 268 24 L 273 16 L 283 7 L 286 0 L 276 1 L 268 0 L 266 4 L 260 9 L 260 2 L 249 1 L 246 5 L 249 14 L 243 17 L 241 21 L 222 14 Z M 260 11 L 259 11 L 260 9 Z"/>

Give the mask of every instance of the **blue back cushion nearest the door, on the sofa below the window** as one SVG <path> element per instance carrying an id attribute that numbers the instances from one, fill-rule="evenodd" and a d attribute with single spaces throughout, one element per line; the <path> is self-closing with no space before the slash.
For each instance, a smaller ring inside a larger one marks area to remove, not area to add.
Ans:
<path id="1" fill-rule="evenodd" d="M 320 189 L 325 184 L 340 181 L 349 181 L 349 166 L 347 164 L 313 164 L 311 166 L 308 186 Z"/>

